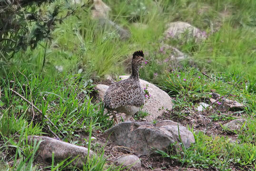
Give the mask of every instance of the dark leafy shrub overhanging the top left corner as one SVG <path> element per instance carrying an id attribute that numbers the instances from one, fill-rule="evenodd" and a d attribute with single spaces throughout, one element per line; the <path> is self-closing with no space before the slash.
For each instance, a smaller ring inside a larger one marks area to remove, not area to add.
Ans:
<path id="1" fill-rule="evenodd" d="M 75 12 L 51 0 L 0 1 L 0 61 L 7 62 L 20 50 L 34 49 L 44 38 L 50 38 L 56 23 Z M 47 9 L 47 10 L 46 10 Z M 60 16 L 59 13 L 65 15 Z"/>

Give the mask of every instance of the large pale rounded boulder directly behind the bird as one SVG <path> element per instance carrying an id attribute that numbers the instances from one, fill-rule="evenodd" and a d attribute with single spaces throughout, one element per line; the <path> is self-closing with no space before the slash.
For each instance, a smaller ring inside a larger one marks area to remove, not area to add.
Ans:
<path id="1" fill-rule="evenodd" d="M 126 79 L 128 76 L 120 76 L 121 79 Z M 142 107 L 142 111 L 148 112 L 148 116 L 145 117 L 146 121 L 151 122 L 156 120 L 159 115 L 163 114 L 163 112 L 172 109 L 172 99 L 170 96 L 158 88 L 156 85 L 149 83 L 148 81 L 139 79 L 140 86 L 144 89 L 147 87 L 150 98 L 146 101 L 146 103 Z M 148 86 L 147 86 L 148 85 Z M 96 86 L 98 90 L 98 97 L 103 101 L 104 94 L 108 89 L 108 85 L 99 84 Z"/>

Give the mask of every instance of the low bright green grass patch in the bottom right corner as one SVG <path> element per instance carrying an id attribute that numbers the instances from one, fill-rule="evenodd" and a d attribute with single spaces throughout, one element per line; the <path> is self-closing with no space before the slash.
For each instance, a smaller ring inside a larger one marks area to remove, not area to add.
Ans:
<path id="1" fill-rule="evenodd" d="M 182 147 L 179 152 L 157 152 L 189 167 L 222 171 L 229 171 L 232 165 L 239 165 L 240 169 L 245 170 L 251 168 L 251 171 L 255 168 L 256 147 L 253 143 L 234 144 L 223 136 L 210 137 L 202 132 L 194 135 L 196 142 L 188 149 Z"/>

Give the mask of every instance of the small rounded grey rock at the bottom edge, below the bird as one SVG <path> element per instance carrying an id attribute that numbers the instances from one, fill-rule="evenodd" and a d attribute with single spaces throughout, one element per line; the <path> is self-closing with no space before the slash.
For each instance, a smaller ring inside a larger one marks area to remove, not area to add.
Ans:
<path id="1" fill-rule="evenodd" d="M 141 161 L 136 155 L 127 155 L 120 157 L 117 160 L 119 165 L 127 166 L 127 168 L 131 167 L 131 169 L 140 169 L 141 168 Z"/>

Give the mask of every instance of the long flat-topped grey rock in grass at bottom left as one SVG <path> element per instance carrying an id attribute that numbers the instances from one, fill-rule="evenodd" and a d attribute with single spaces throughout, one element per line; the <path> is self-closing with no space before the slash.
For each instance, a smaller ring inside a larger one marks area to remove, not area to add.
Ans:
<path id="1" fill-rule="evenodd" d="M 54 138 L 46 136 L 29 136 L 28 143 L 32 144 L 34 142 L 42 141 L 39 145 L 37 153 L 39 154 L 38 161 L 50 163 L 52 161 L 52 153 L 54 152 L 55 161 L 63 161 L 70 157 L 70 160 L 76 158 L 72 164 L 78 168 L 83 168 L 84 162 L 88 156 L 88 149 L 78 145 L 70 144 L 68 142 L 63 142 Z M 90 151 L 89 156 L 93 157 L 96 155 L 94 152 Z"/>

